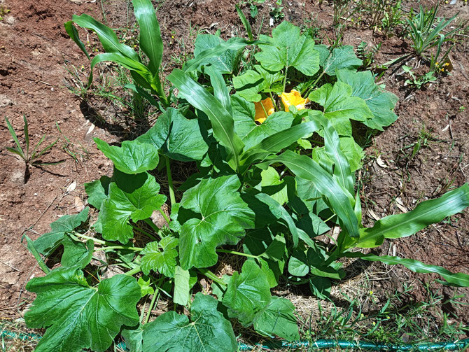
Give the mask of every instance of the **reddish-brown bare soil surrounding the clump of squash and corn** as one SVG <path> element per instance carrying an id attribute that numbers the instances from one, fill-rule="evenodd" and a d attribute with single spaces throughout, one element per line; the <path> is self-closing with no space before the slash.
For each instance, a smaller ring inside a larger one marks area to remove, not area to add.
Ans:
<path id="1" fill-rule="evenodd" d="M 1 2 L 1 1 L 0 1 Z M 332 35 L 332 3 L 323 1 L 284 1 L 286 20 L 295 24 L 316 24 L 320 34 Z M 190 55 L 195 31 L 221 31 L 224 38 L 243 35 L 241 22 L 235 10 L 236 1 L 185 0 L 158 3 L 158 20 L 165 44 L 166 71 L 177 66 L 177 58 Z M 269 32 L 269 6 L 274 1 L 259 5 L 259 14 L 252 21 L 255 31 Z M 457 1 L 456 6 L 444 5 L 441 15 L 449 17 L 461 11 L 468 19 L 469 6 Z M 0 123 L 0 318 L 22 316 L 32 298 L 25 293 L 25 284 L 31 277 L 40 276 L 36 261 L 21 243 L 23 234 L 36 239 L 50 230 L 49 224 L 59 216 L 77 213 L 87 204 L 83 183 L 112 173 L 112 164 L 94 146 L 94 137 L 118 141 L 132 134 L 133 120 L 125 118 L 128 111 L 99 99 L 83 101 L 66 87 L 73 86 L 74 78 L 67 69 L 73 66 L 85 77 L 89 64 L 78 47 L 69 39 L 63 23 L 71 15 L 88 13 L 98 20 L 106 20 L 113 28 L 134 23 L 129 1 L 109 0 L 3 0 L 1 6 L 10 13 L 0 21 L 0 108 L 1 117 L 7 117 L 15 127 L 20 141 L 22 116 L 29 121 L 31 144 L 34 146 L 43 134 L 47 141 L 59 137 L 57 145 L 43 158 L 44 162 L 63 160 L 55 166 L 31 167 L 25 183 L 25 163 L 8 153 L 6 146 L 14 142 L 4 122 Z M 103 7 L 102 7 L 103 6 Z M 416 6 L 407 3 L 407 6 Z M 247 6 L 242 8 L 248 13 Z M 312 13 L 312 15 L 311 15 Z M 105 18 L 104 18 L 105 15 Z M 263 20 L 262 20 L 263 19 Z M 90 48 L 99 45 L 90 35 Z M 354 45 L 367 41 L 370 45 L 382 43 L 375 57 L 384 63 L 409 52 L 409 43 L 396 36 L 388 38 L 370 29 L 349 27 L 344 32 L 344 43 Z M 463 185 L 469 175 L 469 55 L 468 40 L 461 38 L 451 52 L 454 69 L 423 90 L 405 87 L 408 77 L 402 70 L 388 70 L 381 78 L 386 89 L 399 97 L 395 108 L 399 115 L 391 127 L 369 141 L 365 166 L 358 176 L 366 225 L 377 218 L 413 209 L 417 202 L 442 195 L 446 190 Z M 327 43 L 327 41 L 325 41 Z M 174 59 L 176 57 L 176 59 Z M 81 65 L 85 69 L 80 69 Z M 414 61 L 408 66 L 418 66 Z M 421 63 L 424 66 L 424 63 Z M 422 66 L 422 69 L 423 69 Z M 73 70 L 72 70 L 73 71 Z M 461 106 L 466 110 L 462 111 Z M 59 134 L 56 122 L 64 136 Z M 414 157 L 412 153 L 419 136 L 426 133 L 426 142 Z M 73 149 L 75 158 L 62 148 Z M 68 189 L 68 191 L 67 191 Z M 428 227 L 414 237 L 385 243 L 381 254 L 399 255 L 446 267 L 452 272 L 469 274 L 469 213 L 447 219 Z M 375 264 L 374 264 L 375 265 Z M 375 265 L 379 267 L 379 265 Z M 401 289 L 402 282 L 412 284 L 414 300 L 423 299 L 423 283 L 436 276 L 409 272 L 400 267 L 389 267 L 391 279 L 373 281 L 377 297 Z M 463 295 L 469 303 L 468 288 L 438 286 L 445 297 Z M 469 310 L 463 305 L 444 307 L 466 325 Z"/>

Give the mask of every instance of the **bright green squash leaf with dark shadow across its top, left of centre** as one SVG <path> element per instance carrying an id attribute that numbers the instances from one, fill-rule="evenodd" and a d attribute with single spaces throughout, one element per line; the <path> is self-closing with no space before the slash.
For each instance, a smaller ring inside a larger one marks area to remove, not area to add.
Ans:
<path id="1" fill-rule="evenodd" d="M 134 237 L 130 220 L 150 218 L 165 204 L 166 196 L 158 194 L 160 185 L 146 172 L 127 175 L 115 171 L 115 177 L 116 182 L 109 185 L 109 197 L 102 203 L 99 221 L 104 239 L 125 244 Z"/>

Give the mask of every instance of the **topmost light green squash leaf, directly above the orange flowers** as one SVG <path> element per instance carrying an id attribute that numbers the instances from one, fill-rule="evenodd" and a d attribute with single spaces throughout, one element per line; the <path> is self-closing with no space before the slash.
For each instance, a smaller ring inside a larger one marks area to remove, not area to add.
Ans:
<path id="1" fill-rule="evenodd" d="M 293 66 L 307 76 L 313 76 L 319 70 L 319 54 L 314 50 L 314 40 L 300 34 L 300 28 L 289 22 L 281 22 L 272 30 L 272 38 L 260 36 L 260 52 L 255 59 L 269 71 L 280 71 Z"/>

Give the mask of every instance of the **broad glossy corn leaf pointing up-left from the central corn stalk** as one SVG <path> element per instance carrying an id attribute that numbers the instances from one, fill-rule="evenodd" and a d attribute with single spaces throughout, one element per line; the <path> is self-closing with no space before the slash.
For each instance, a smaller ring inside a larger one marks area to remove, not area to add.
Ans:
<path id="1" fill-rule="evenodd" d="M 195 82 L 188 74 L 180 69 L 174 69 L 167 77 L 173 83 L 184 98 L 195 108 L 209 116 L 216 138 L 230 149 L 235 158 L 235 169 L 239 165 L 239 155 L 244 148 L 244 143 L 235 134 L 235 122 L 232 115 L 212 94 Z"/>

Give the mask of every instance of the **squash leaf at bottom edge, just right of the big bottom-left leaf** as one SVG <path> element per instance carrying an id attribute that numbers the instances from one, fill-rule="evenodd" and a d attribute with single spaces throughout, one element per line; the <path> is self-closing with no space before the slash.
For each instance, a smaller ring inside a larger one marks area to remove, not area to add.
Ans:
<path id="1" fill-rule="evenodd" d="M 214 297 L 197 293 L 185 315 L 168 311 L 144 325 L 143 352 L 232 352 L 235 333 L 229 321 L 217 310 Z"/>

